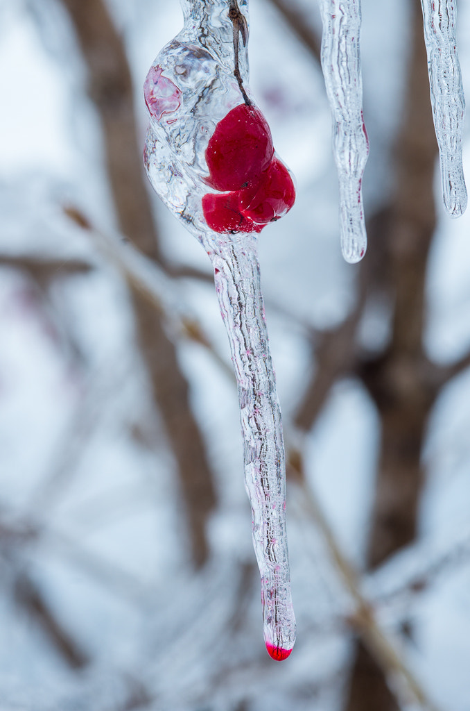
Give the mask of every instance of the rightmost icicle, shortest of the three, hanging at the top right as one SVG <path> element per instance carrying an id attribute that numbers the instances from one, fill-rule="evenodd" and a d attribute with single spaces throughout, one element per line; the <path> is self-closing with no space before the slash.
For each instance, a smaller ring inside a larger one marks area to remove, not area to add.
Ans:
<path id="1" fill-rule="evenodd" d="M 467 196 L 462 167 L 465 100 L 455 37 L 456 1 L 421 0 L 421 5 L 442 196 L 449 215 L 457 218 L 465 212 Z"/>

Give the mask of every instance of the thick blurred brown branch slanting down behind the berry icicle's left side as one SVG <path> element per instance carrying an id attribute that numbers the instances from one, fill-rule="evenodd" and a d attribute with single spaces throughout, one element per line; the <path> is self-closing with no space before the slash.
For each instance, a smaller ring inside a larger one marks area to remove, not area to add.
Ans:
<path id="1" fill-rule="evenodd" d="M 136 138 L 133 87 L 124 43 L 104 0 L 62 0 L 62 4 L 77 32 L 89 71 L 89 93 L 102 119 L 119 229 L 146 257 L 161 262 L 142 151 Z M 177 462 L 190 523 L 192 558 L 196 565 L 202 565 L 208 555 L 205 525 L 216 504 L 204 442 L 190 408 L 187 381 L 177 365 L 175 345 L 165 332 L 161 314 L 138 289 L 132 289 L 132 300 L 151 392 Z"/>

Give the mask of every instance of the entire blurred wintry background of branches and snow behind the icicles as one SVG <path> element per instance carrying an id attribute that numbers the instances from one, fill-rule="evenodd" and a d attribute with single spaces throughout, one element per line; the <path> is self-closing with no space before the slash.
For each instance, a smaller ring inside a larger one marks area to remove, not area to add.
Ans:
<path id="1" fill-rule="evenodd" d="M 259 240 L 295 650 L 263 645 L 209 260 L 143 175 L 179 4 L 0 0 L 1 711 L 469 709 L 470 216 L 442 207 L 420 3 L 363 1 L 354 266 L 317 3 L 250 11 L 298 188 Z M 467 96 L 469 26 L 461 4 Z"/>

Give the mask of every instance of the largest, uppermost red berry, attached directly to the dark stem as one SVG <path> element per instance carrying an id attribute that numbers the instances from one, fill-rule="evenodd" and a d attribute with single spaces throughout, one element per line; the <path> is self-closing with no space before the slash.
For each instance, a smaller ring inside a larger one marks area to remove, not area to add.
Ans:
<path id="1" fill-rule="evenodd" d="M 206 149 L 210 186 L 240 190 L 257 183 L 273 159 L 273 138 L 263 114 L 240 104 L 219 121 Z"/>

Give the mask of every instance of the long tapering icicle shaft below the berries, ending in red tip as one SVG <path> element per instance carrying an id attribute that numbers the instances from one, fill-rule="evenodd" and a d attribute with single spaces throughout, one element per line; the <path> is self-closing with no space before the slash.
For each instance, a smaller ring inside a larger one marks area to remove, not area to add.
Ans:
<path id="1" fill-rule="evenodd" d="M 295 642 L 285 528 L 285 456 L 256 237 L 219 238 L 207 245 L 207 251 L 239 390 L 245 486 L 261 574 L 264 638 L 270 655 L 283 659 Z"/>

